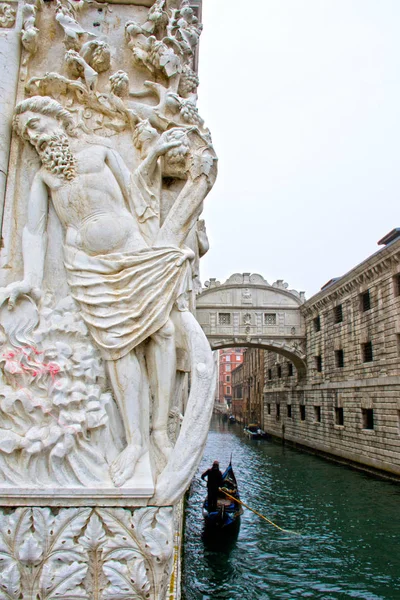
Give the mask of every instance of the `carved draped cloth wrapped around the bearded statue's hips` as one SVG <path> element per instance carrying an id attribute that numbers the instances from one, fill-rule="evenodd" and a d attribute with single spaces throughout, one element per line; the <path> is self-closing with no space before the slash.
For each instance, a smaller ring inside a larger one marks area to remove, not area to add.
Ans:
<path id="1" fill-rule="evenodd" d="M 187 289 L 187 261 L 175 247 L 90 256 L 64 248 L 71 294 L 106 360 L 117 360 L 158 331 Z"/>

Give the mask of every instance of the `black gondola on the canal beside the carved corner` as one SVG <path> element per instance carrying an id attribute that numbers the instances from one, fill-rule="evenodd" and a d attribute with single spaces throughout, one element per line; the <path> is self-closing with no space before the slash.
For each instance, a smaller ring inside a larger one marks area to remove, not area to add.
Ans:
<path id="1" fill-rule="evenodd" d="M 221 490 L 225 490 L 229 496 L 240 500 L 236 477 L 233 472 L 232 462 L 222 474 Z M 218 494 L 217 510 L 209 512 L 207 496 L 203 502 L 203 517 L 208 531 L 231 531 L 239 527 L 240 515 L 243 514 L 242 506 L 229 498 L 223 491 Z"/>

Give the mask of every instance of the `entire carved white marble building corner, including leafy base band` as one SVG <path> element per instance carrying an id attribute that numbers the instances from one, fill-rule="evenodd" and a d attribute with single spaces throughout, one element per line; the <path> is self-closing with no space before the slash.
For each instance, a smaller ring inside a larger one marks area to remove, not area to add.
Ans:
<path id="1" fill-rule="evenodd" d="M 196 10 L 0 3 L 0 597 L 165 597 L 215 385 Z"/>

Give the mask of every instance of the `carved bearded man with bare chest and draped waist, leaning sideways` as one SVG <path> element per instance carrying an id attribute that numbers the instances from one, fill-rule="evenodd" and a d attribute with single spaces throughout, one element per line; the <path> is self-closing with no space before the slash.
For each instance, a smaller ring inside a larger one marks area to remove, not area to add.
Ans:
<path id="1" fill-rule="evenodd" d="M 145 340 L 153 379 L 152 443 L 171 454 L 167 435 L 176 372 L 171 312 L 185 289 L 193 252 L 183 247 L 210 187 L 202 173 L 188 178 L 151 246 L 135 214 L 131 174 L 121 156 L 101 144 L 67 135 L 71 116 L 58 102 L 34 96 L 15 110 L 14 128 L 37 151 L 41 168 L 31 185 L 22 235 L 24 277 L 0 290 L 13 308 L 23 294 L 40 295 L 46 255 L 48 195 L 64 231 L 64 264 L 71 294 L 107 363 L 127 445 L 110 466 L 116 486 L 134 474 L 148 450 L 142 405 L 143 372 L 135 348 Z M 164 156 L 179 145 L 161 135 L 153 152 Z M 191 313 L 185 319 L 194 319 Z"/>

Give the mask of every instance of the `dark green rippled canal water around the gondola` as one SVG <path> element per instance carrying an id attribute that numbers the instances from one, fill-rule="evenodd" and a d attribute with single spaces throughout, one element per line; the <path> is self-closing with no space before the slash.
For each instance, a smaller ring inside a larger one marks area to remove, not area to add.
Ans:
<path id="1" fill-rule="evenodd" d="M 200 474 L 232 463 L 245 509 L 237 539 L 203 539 Z M 213 420 L 186 508 L 184 600 L 400 600 L 400 485 Z"/>

